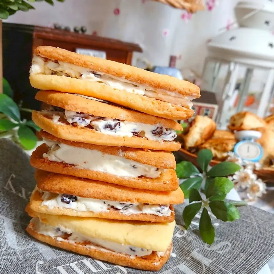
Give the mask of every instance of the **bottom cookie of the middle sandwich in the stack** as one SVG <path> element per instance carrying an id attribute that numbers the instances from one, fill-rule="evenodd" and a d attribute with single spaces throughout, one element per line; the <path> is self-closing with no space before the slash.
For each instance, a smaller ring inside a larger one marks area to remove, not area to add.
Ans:
<path id="1" fill-rule="evenodd" d="M 158 191 L 174 191 L 178 188 L 178 178 L 174 169 L 168 169 L 166 172 L 161 173 L 161 175 L 155 179 L 146 177 L 120 177 L 106 172 L 79 169 L 69 164 L 49 161 L 43 158 L 43 154 L 47 152 L 48 148 L 46 144 L 39 146 L 31 155 L 31 165 L 35 168 L 49 172 L 99 180 L 133 188 Z"/>

